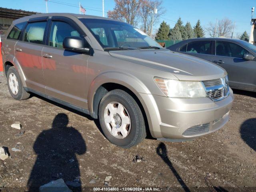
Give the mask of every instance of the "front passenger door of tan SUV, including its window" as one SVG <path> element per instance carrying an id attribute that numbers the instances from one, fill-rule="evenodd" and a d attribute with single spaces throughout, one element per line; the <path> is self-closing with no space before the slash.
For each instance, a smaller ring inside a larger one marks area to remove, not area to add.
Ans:
<path id="1" fill-rule="evenodd" d="M 42 50 L 42 63 L 46 94 L 87 108 L 87 61 L 90 56 L 62 48 L 65 37 L 83 35 L 69 20 L 52 17 L 48 46 Z"/>

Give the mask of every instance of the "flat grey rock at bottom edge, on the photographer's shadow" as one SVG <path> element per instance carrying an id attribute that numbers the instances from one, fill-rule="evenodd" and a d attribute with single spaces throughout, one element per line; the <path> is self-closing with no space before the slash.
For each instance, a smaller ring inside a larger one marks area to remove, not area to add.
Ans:
<path id="1" fill-rule="evenodd" d="M 63 179 L 58 179 L 40 186 L 39 192 L 72 192 L 72 190 L 68 188 Z"/>

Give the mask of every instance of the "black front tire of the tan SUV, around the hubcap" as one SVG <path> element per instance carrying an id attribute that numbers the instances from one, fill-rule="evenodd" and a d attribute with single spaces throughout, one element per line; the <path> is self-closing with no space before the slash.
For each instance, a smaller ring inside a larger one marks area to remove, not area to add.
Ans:
<path id="1" fill-rule="evenodd" d="M 110 102 L 119 102 L 130 115 L 130 133 L 125 138 L 116 138 L 107 129 L 104 121 L 104 110 Z M 122 148 L 135 146 L 146 138 L 145 122 L 140 107 L 132 96 L 123 90 L 112 90 L 102 98 L 99 106 L 99 120 L 105 137 Z"/>

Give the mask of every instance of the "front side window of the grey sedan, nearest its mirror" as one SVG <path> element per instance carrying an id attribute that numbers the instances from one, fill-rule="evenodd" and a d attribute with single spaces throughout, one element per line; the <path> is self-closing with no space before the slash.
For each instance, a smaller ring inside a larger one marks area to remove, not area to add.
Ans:
<path id="1" fill-rule="evenodd" d="M 248 51 L 238 44 L 226 41 L 216 41 L 216 55 L 218 56 L 243 58 L 246 53 L 248 53 Z"/>

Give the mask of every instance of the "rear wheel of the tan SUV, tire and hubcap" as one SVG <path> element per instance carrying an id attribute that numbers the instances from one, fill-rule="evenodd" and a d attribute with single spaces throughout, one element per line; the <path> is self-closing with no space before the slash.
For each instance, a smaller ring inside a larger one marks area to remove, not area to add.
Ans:
<path id="1" fill-rule="evenodd" d="M 12 98 L 16 100 L 24 100 L 29 98 L 30 94 L 24 90 L 20 75 L 14 66 L 7 71 L 7 85 Z"/>

